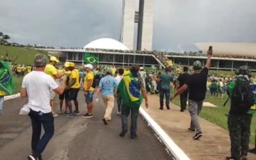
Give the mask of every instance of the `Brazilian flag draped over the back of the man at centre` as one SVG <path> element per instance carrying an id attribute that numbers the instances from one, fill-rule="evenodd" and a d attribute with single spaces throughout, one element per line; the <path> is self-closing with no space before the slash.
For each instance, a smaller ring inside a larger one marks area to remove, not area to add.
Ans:
<path id="1" fill-rule="evenodd" d="M 118 84 L 122 102 L 130 108 L 140 108 L 143 96 L 140 93 L 140 84 L 134 80 L 132 74 L 126 74 Z"/>

